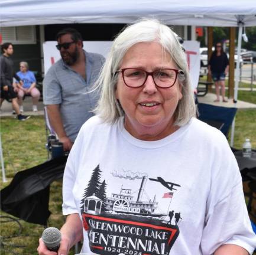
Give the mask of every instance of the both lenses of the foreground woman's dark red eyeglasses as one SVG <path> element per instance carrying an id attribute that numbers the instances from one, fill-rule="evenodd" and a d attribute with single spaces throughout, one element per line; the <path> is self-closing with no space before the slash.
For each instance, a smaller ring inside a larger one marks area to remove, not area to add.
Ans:
<path id="1" fill-rule="evenodd" d="M 171 87 L 177 79 L 177 70 L 161 69 L 148 73 L 141 69 L 128 68 L 123 71 L 124 82 L 129 87 L 142 86 L 148 75 L 153 76 L 153 80 L 158 87 Z"/>

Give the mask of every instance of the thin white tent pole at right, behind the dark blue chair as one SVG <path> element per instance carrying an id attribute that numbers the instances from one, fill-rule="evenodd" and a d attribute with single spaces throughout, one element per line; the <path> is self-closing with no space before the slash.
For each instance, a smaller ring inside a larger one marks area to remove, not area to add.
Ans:
<path id="1" fill-rule="evenodd" d="M 237 45 L 237 60 L 235 68 L 235 91 L 234 91 L 234 103 L 236 107 L 236 102 L 238 98 L 238 83 L 239 83 L 239 73 L 240 73 L 240 58 L 241 58 L 241 45 L 242 45 L 242 22 L 238 22 L 238 45 Z M 235 136 L 235 117 L 231 126 L 231 142 L 230 146 L 234 146 L 234 136 Z"/>

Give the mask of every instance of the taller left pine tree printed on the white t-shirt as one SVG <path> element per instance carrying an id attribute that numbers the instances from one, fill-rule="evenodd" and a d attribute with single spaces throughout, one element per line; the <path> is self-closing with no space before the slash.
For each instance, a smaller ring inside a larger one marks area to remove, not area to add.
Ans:
<path id="1" fill-rule="evenodd" d="M 91 195 L 96 195 L 98 193 L 99 187 L 101 185 L 101 169 L 99 165 L 92 171 L 92 176 L 90 176 L 90 181 L 88 182 L 87 188 L 85 188 L 85 192 L 83 193 L 83 198 L 81 200 L 81 209 L 83 210 L 83 204 L 85 202 L 86 197 L 90 197 Z"/>

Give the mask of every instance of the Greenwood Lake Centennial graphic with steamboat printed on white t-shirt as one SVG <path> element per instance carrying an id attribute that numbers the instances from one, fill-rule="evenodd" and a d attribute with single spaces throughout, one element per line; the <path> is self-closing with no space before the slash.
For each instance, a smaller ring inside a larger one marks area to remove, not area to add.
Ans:
<path id="1" fill-rule="evenodd" d="M 112 182 L 108 187 L 108 180 L 102 179 L 101 173 L 99 165 L 93 169 L 81 200 L 90 250 L 104 255 L 169 254 L 182 220 L 180 213 L 171 210 L 171 200 L 180 185 L 160 176 L 122 169 L 111 173 L 116 185 Z M 137 187 L 132 185 L 135 182 Z M 165 192 L 152 190 L 153 184 Z M 127 188 L 131 185 L 134 188 Z M 147 192 L 157 194 L 148 197 Z"/>

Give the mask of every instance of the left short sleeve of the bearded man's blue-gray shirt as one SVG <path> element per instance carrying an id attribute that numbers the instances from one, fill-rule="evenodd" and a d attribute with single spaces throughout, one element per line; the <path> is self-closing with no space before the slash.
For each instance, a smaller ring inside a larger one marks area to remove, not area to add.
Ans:
<path id="1" fill-rule="evenodd" d="M 43 80 L 44 104 L 60 104 L 62 102 L 61 86 L 53 68 L 48 70 Z"/>

